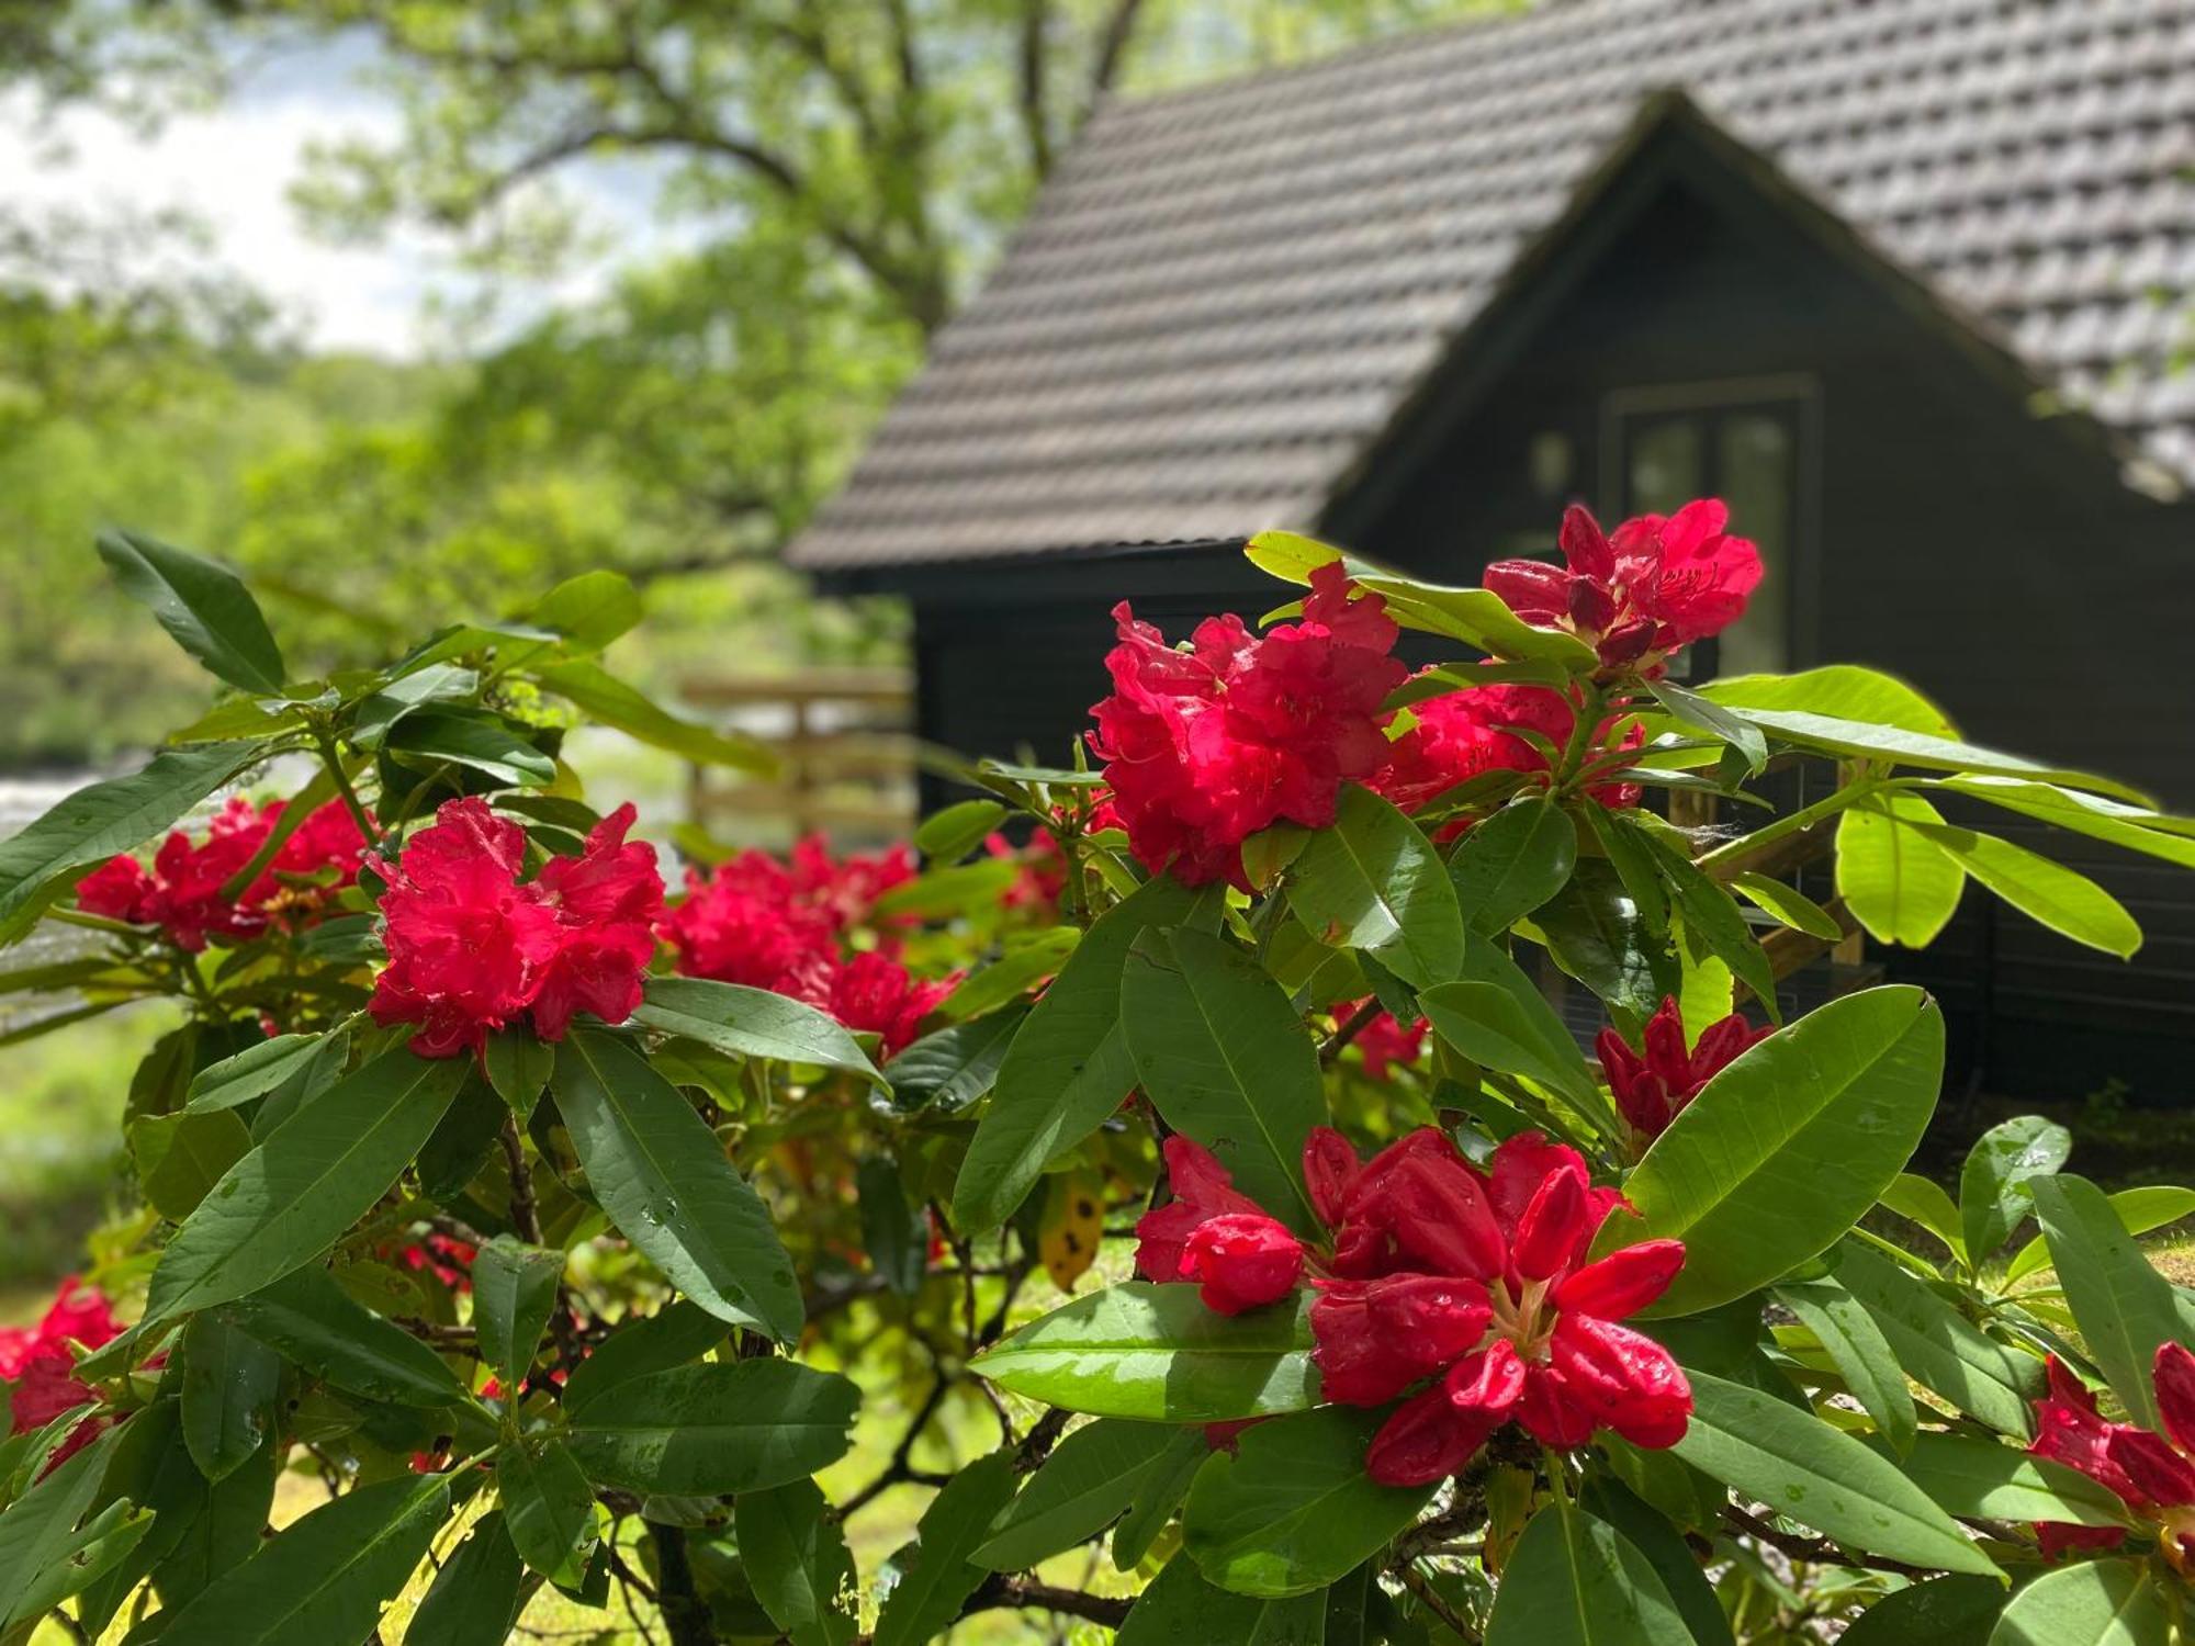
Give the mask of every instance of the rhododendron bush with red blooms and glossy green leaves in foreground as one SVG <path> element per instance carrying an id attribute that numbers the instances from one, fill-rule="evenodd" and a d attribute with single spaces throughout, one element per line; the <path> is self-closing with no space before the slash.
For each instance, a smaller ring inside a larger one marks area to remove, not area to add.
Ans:
<path id="1" fill-rule="evenodd" d="M 1943 1016 L 1822 957 L 1967 880 L 2127 955 L 1989 819 L 2195 825 L 1870 669 L 1697 678 L 1738 525 L 1484 588 L 1269 533 L 1258 623 L 1117 608 L 1060 766 L 685 860 L 569 731 L 766 755 L 608 672 L 619 579 L 296 680 L 103 540 L 222 694 L 0 843 L 24 1031 L 178 1023 L 0 1332 L 0 1642 L 2188 1635 L 2134 1236 L 2195 1192 L 2041 1119 L 1910 1174 Z"/>

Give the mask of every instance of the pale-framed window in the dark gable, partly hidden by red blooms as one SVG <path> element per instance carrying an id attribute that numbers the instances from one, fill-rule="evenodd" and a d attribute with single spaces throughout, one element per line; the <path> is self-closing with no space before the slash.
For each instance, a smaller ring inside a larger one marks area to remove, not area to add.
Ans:
<path id="1" fill-rule="evenodd" d="M 1602 492 L 1616 518 L 1670 514 L 1719 496 L 1732 527 L 1760 546 L 1760 593 L 1745 617 L 1677 665 L 1679 676 L 1787 669 L 1793 615 L 1804 601 L 1802 525 L 1809 437 L 1815 424 L 1806 382 L 1644 388 L 1607 402 L 1609 467 Z"/>

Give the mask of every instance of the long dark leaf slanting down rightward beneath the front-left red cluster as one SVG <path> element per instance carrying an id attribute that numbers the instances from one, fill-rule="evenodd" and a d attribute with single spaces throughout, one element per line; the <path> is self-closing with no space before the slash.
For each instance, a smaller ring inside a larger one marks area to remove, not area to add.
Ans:
<path id="1" fill-rule="evenodd" d="M 801 1334 L 768 1207 L 676 1086 L 623 1040 L 577 1029 L 558 1049 L 555 1102 L 601 1209 L 680 1293 L 779 1343 Z"/>

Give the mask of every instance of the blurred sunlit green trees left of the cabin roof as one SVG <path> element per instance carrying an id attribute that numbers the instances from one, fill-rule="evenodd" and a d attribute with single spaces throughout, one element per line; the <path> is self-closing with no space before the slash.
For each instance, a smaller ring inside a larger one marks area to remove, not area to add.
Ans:
<path id="1" fill-rule="evenodd" d="M 268 53 L 338 46 L 397 114 L 292 206 L 428 233 L 470 292 L 406 358 L 316 349 L 171 211 L 0 180 L 0 773 L 108 759 L 204 680 L 105 595 L 99 525 L 224 555 L 301 667 L 382 654 L 586 566 L 648 588 L 619 667 L 885 661 L 889 606 L 775 551 L 845 472 L 1108 94 L 1271 66 L 1495 0 L 0 0 L 0 119 L 158 138 Z M 331 127 L 334 129 L 334 127 Z M 645 195 L 619 257 L 569 184 Z M 608 268 L 514 318 L 505 277 Z M 342 292 L 325 303 L 340 307 Z"/>

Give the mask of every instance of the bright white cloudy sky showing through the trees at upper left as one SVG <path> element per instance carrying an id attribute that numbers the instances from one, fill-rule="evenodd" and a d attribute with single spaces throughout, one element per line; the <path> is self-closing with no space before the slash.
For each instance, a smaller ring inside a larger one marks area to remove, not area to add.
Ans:
<path id="1" fill-rule="evenodd" d="M 397 136 L 393 99 L 362 83 L 369 66 L 356 42 L 285 48 L 255 61 L 219 108 L 173 116 L 151 136 L 97 110 L 33 129 L 29 99 L 0 94 L 0 208 L 184 208 L 213 235 L 213 259 L 270 296 L 312 347 L 419 358 L 439 340 L 432 298 L 474 290 L 450 241 L 402 230 L 373 246 L 334 246 L 312 237 L 288 200 L 309 143 Z M 652 184 L 632 167 L 573 169 L 562 187 L 590 222 L 617 228 L 621 259 L 663 248 Z M 610 272 L 498 281 L 503 325 L 584 301 Z"/>

